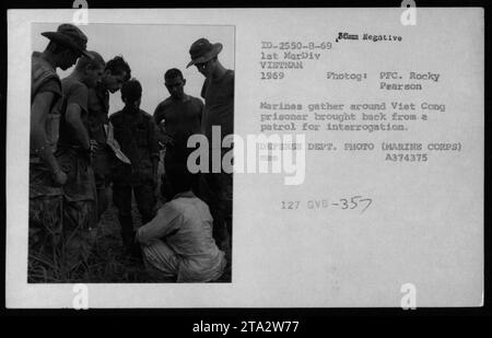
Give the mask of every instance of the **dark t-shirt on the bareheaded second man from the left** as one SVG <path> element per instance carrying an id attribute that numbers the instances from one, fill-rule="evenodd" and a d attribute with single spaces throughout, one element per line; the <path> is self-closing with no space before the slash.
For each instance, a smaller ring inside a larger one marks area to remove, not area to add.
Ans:
<path id="1" fill-rule="evenodd" d="M 58 144 L 60 145 L 71 145 L 71 147 L 81 147 L 79 144 L 75 132 L 73 129 L 67 125 L 66 123 L 66 114 L 67 108 L 71 104 L 77 104 L 81 108 L 81 118 L 87 129 L 87 97 L 89 97 L 89 89 L 80 82 L 79 80 L 73 79 L 72 77 L 65 78 L 61 80 L 61 89 L 63 92 L 63 100 L 61 104 L 61 121 L 60 121 L 60 138 Z"/>

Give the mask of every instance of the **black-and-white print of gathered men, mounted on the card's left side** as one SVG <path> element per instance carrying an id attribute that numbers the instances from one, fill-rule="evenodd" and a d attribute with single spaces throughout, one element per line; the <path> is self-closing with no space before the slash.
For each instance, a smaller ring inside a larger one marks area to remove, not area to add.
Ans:
<path id="1" fill-rule="evenodd" d="M 187 142 L 234 132 L 234 27 L 33 24 L 32 44 L 28 282 L 231 282 L 232 173 Z"/>

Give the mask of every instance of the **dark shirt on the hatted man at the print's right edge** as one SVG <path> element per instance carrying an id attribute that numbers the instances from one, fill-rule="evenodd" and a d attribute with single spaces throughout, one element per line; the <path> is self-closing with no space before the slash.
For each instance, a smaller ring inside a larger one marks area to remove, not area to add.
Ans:
<path id="1" fill-rule="evenodd" d="M 227 70 L 220 79 L 208 78 L 201 96 L 206 101 L 202 128 L 212 139 L 212 126 L 221 126 L 221 139 L 234 132 L 234 71 Z M 211 143 L 211 142 L 210 142 Z"/>

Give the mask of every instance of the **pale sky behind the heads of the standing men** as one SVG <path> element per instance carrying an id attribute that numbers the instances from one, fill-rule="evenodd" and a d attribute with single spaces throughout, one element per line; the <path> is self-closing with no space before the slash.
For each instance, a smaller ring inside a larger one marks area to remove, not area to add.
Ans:
<path id="1" fill-rule="evenodd" d="M 58 24 L 36 23 L 32 25 L 33 50 L 43 51 L 48 39 L 42 32 L 55 32 Z M 130 65 L 131 75 L 142 84 L 141 109 L 153 114 L 160 102 L 169 94 L 164 86 L 164 73 L 169 68 L 178 68 L 186 79 L 185 92 L 200 96 L 203 75 L 196 67 L 186 69 L 190 61 L 189 47 L 200 37 L 212 44 L 221 43 L 221 63 L 234 69 L 234 27 L 212 25 L 136 25 L 136 24 L 89 24 L 79 26 L 87 36 L 87 49 L 99 53 L 107 61 L 121 55 Z M 61 71 L 60 78 L 69 75 L 73 67 Z M 109 98 L 109 114 L 124 106 L 119 92 Z"/>

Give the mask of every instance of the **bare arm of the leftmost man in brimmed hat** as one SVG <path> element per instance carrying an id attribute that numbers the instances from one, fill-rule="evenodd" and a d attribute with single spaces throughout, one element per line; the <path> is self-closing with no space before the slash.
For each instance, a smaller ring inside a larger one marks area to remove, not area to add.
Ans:
<path id="1" fill-rule="evenodd" d="M 48 144 L 46 136 L 46 119 L 55 94 L 51 92 L 42 92 L 36 95 L 31 106 L 31 150 L 36 153 L 48 166 L 49 171 L 57 175 L 60 166 Z"/>

